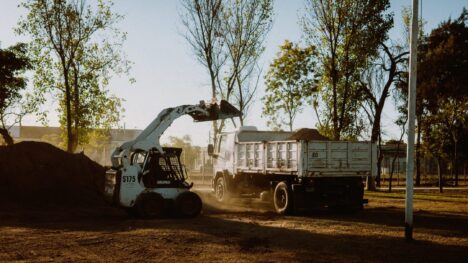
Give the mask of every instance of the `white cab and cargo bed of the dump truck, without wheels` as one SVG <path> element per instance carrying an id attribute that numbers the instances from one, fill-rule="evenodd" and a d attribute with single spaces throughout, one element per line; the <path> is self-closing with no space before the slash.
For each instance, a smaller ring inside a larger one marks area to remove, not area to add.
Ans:
<path id="1" fill-rule="evenodd" d="M 299 177 L 376 176 L 377 147 L 370 142 L 281 140 L 288 132 L 239 131 L 220 136 L 215 169 L 230 174 Z M 273 140 L 262 140 L 270 137 Z M 275 140 L 279 139 L 279 140 Z M 233 155 L 233 156 L 231 156 Z"/>

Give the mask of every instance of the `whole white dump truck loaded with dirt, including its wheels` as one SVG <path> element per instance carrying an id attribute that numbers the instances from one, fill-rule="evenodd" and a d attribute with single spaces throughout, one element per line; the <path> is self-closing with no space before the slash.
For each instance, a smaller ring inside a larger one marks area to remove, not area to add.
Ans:
<path id="1" fill-rule="evenodd" d="M 364 180 L 377 173 L 376 152 L 370 142 L 241 127 L 219 134 L 216 145 L 208 145 L 212 190 L 219 202 L 260 198 L 279 214 L 314 207 L 361 209 L 367 201 Z"/>

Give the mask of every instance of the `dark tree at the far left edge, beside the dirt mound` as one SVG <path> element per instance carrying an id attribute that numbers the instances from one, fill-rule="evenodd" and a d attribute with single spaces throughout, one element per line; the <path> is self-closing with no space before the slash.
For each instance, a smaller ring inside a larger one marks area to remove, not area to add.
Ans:
<path id="1" fill-rule="evenodd" d="M 31 63 L 26 57 L 26 44 L 0 49 L 0 134 L 7 145 L 13 144 L 9 128 L 35 109 L 34 101 L 25 100 L 22 93 L 26 88 L 22 74 L 28 69 Z"/>

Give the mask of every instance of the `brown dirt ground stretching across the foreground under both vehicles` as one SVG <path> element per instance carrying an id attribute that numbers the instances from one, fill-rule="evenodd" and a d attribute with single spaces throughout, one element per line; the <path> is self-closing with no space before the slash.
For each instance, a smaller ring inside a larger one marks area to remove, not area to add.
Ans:
<path id="1" fill-rule="evenodd" d="M 358 213 L 302 216 L 247 200 L 217 207 L 206 194 L 195 219 L 3 206 L 0 261 L 467 262 L 468 193 L 417 194 L 413 242 L 403 239 L 403 193 L 366 195 Z"/>

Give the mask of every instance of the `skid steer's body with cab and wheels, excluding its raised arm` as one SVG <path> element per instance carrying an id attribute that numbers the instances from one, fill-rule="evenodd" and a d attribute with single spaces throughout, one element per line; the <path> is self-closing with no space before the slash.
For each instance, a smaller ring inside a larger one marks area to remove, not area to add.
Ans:
<path id="1" fill-rule="evenodd" d="M 192 184 L 187 183 L 187 172 L 180 162 L 182 149 L 163 149 L 164 153 L 157 150 L 133 152 L 127 168 L 108 170 L 104 191 L 106 199 L 126 207 L 132 216 L 198 215 L 202 203 L 195 193 L 189 191 Z"/>

